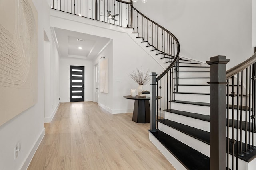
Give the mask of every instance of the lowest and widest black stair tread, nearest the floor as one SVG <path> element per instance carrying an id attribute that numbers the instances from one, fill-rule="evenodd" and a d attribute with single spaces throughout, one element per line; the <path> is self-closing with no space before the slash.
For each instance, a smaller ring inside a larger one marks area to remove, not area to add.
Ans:
<path id="1" fill-rule="evenodd" d="M 188 145 L 157 130 L 149 132 L 189 170 L 210 170 L 210 158 Z M 189 154 L 188 154 L 189 153 Z"/>

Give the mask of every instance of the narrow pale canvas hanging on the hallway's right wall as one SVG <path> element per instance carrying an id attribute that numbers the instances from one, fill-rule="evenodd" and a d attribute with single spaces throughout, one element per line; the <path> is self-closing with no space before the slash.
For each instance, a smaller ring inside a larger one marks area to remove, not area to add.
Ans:
<path id="1" fill-rule="evenodd" d="M 108 93 L 108 59 L 100 60 L 100 92 Z"/>

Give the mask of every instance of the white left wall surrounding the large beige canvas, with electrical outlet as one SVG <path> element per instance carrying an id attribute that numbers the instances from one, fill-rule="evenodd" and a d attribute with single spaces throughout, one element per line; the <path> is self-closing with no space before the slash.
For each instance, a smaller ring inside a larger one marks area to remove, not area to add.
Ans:
<path id="1" fill-rule="evenodd" d="M 44 29 L 50 36 L 46 0 L 33 0 L 38 11 L 38 101 L 4 125 L 0 126 L 0 169 L 25 170 L 44 136 Z M 49 28 L 48 28 L 49 27 Z M 48 28 L 48 29 L 47 29 Z M 15 104 L 13 104 L 15 107 Z M 14 160 L 14 147 L 21 150 Z"/>

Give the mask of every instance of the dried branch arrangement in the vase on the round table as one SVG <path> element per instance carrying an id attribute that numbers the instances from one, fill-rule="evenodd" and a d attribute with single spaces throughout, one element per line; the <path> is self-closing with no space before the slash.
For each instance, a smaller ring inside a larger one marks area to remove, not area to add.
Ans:
<path id="1" fill-rule="evenodd" d="M 136 68 L 136 70 L 133 70 L 129 76 L 139 85 L 144 85 L 147 84 L 150 80 L 149 72 L 149 69 L 146 72 L 143 72 L 142 68 L 141 70 Z"/>

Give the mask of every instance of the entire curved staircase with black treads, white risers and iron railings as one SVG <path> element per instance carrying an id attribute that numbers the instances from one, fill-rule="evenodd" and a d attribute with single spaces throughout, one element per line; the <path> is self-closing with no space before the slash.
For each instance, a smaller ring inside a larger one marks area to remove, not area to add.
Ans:
<path id="1" fill-rule="evenodd" d="M 224 131 L 227 131 L 224 140 L 219 143 L 222 145 L 224 143 L 227 147 L 224 148 L 224 154 L 219 155 L 218 160 L 215 157 L 210 159 L 210 150 L 214 150 L 215 145 L 210 146 L 212 92 L 211 84 L 208 84 L 211 82 L 209 66 L 179 57 L 178 39 L 170 31 L 134 8 L 132 0 L 130 2 L 122 0 L 88 0 L 86 2 L 70 1 L 68 3 L 65 0 L 52 0 L 51 8 L 132 28 L 135 39 L 144 44 L 150 51 L 148 52 L 150 55 L 164 64 L 164 72 L 158 77 L 155 73 L 151 75 L 152 113 L 149 138 L 173 166 L 177 170 L 216 170 L 217 168 L 212 168 L 214 166 L 210 162 L 217 162 L 217 164 L 222 162 L 222 168 L 218 169 L 254 170 L 256 165 L 254 159 L 256 156 L 256 147 L 254 147 L 256 55 L 254 54 L 253 59 L 250 58 L 249 65 L 248 62 L 243 63 L 247 64 L 246 67 L 240 65 L 231 71 L 232 74 L 228 73 L 231 76 L 227 76 L 227 82 L 232 83 L 225 85 L 227 89 L 224 95 L 227 105 L 223 103 L 227 114 L 225 116 L 224 113 L 218 113 L 222 114 L 222 117 L 224 115 L 226 121 Z M 112 15 L 119 12 L 118 18 L 115 18 L 118 21 L 106 20 L 102 17 L 108 15 L 107 11 L 112 11 Z M 244 78 L 241 78 L 241 75 L 245 74 L 245 71 L 242 71 L 244 69 L 246 69 L 246 76 L 252 81 L 250 87 L 247 80 L 245 83 Z M 250 74 L 247 75 L 248 69 Z M 249 89 L 252 92 L 249 92 Z M 154 96 L 161 96 L 161 99 L 156 100 Z M 228 167 L 226 167 L 227 164 Z"/>

